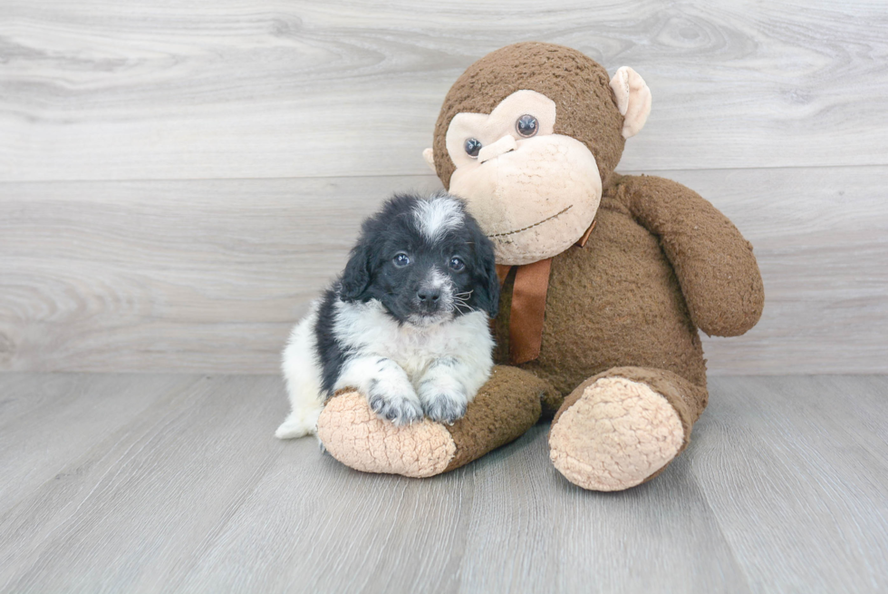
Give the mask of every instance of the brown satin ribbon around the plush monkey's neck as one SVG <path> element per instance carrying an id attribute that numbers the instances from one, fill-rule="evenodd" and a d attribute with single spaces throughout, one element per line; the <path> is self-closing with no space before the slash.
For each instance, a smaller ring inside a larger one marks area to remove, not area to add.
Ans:
<path id="1" fill-rule="evenodd" d="M 595 221 L 576 242 L 584 248 L 595 229 Z M 506 282 L 511 266 L 497 264 L 499 286 Z M 543 320 L 545 318 L 545 295 L 549 290 L 549 273 L 552 271 L 552 258 L 546 258 L 518 266 L 515 285 L 512 288 L 512 313 L 508 322 L 509 360 L 512 365 L 533 361 L 539 356 L 543 346 Z"/>

